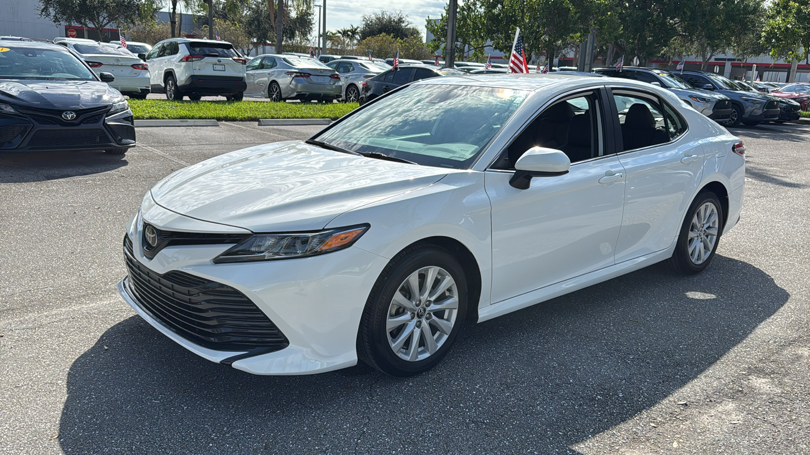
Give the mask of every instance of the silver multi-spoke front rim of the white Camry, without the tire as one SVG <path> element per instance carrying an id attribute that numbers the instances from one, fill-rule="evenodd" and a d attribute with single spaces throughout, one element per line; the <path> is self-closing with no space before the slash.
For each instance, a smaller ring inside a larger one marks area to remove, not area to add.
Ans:
<path id="1" fill-rule="evenodd" d="M 458 288 L 452 275 L 437 266 L 416 270 L 399 285 L 389 305 L 389 346 L 400 359 L 427 359 L 447 341 L 457 316 Z"/>

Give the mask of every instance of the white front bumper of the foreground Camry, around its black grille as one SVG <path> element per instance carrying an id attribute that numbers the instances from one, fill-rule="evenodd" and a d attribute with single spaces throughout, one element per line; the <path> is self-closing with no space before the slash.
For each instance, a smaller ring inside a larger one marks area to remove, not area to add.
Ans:
<path id="1" fill-rule="evenodd" d="M 148 210 L 149 222 L 168 217 L 181 219 L 188 227 L 196 221 L 177 214 L 155 215 L 162 211 L 160 206 Z M 232 245 L 178 245 L 160 250 L 150 261 L 141 252 L 141 224 L 131 223 L 127 234 L 140 266 L 161 275 L 179 270 L 232 287 L 255 304 L 288 340 L 287 347 L 266 353 L 202 346 L 147 311 L 147 305 L 140 303 L 126 279 L 122 280 L 118 291 L 123 299 L 182 347 L 213 362 L 264 375 L 327 372 L 357 363 L 360 317 L 377 276 L 388 262 L 386 258 L 350 247 L 301 259 L 214 264 L 211 259 Z M 206 224 L 210 231 L 210 223 Z"/>

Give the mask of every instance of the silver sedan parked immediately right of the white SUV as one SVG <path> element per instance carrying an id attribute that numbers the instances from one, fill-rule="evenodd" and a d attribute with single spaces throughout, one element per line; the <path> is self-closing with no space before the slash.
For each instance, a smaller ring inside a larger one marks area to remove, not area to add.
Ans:
<path id="1" fill-rule="evenodd" d="M 340 74 L 310 57 L 264 54 L 245 67 L 245 96 L 271 101 L 332 101 L 342 96 Z"/>

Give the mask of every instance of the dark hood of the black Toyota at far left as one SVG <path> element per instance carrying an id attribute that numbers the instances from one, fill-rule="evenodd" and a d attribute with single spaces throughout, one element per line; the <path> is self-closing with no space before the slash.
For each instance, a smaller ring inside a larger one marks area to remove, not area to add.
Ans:
<path id="1" fill-rule="evenodd" d="M 0 79 L 0 98 L 35 108 L 83 109 L 107 106 L 123 96 L 99 81 Z"/>

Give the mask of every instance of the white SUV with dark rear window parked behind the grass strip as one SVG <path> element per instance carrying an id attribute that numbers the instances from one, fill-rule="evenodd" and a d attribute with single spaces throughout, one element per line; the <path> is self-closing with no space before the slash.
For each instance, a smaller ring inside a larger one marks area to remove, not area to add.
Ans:
<path id="1" fill-rule="evenodd" d="M 165 93 L 168 100 L 199 100 L 202 96 L 225 96 L 240 101 L 245 92 L 247 60 L 227 41 L 171 38 L 162 40 L 147 54 L 151 91 Z"/>

